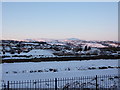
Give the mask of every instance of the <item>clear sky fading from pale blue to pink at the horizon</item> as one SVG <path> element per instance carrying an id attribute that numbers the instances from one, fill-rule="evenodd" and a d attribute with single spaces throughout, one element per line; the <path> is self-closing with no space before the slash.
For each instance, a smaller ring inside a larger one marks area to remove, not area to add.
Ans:
<path id="1" fill-rule="evenodd" d="M 118 40 L 117 2 L 4 2 L 2 39 Z"/>

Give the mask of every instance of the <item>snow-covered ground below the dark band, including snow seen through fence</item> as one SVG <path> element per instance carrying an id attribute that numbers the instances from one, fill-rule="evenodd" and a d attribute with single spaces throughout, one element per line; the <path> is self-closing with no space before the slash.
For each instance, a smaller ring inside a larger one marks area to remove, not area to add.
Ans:
<path id="1" fill-rule="evenodd" d="M 84 61 L 52 61 L 52 62 L 24 62 L 24 63 L 3 63 L 2 83 L 13 82 L 10 88 L 54 88 L 54 79 L 58 78 L 57 88 L 95 88 L 95 76 L 98 78 L 99 88 L 118 88 L 118 60 L 119 59 L 97 59 Z M 105 77 L 105 75 L 108 75 Z M 91 78 L 81 79 L 89 76 Z M 113 76 L 113 77 L 112 77 Z M 61 83 L 62 78 L 66 80 Z M 79 78 L 78 80 L 70 78 Z M 34 81 L 36 80 L 36 81 Z M 50 80 L 43 83 L 38 80 Z M 53 81 L 52 81 L 53 80 Z M 20 81 L 22 84 L 19 85 Z M 32 83 L 36 82 L 36 86 Z M 14 84 L 19 82 L 18 84 Z M 25 82 L 25 83 L 23 83 Z M 78 82 L 78 85 L 77 85 Z M 80 83 L 81 82 L 81 83 Z M 84 86 L 82 84 L 85 84 Z M 106 84 L 106 85 L 105 85 Z M 22 85 L 22 86 L 21 86 Z"/>

